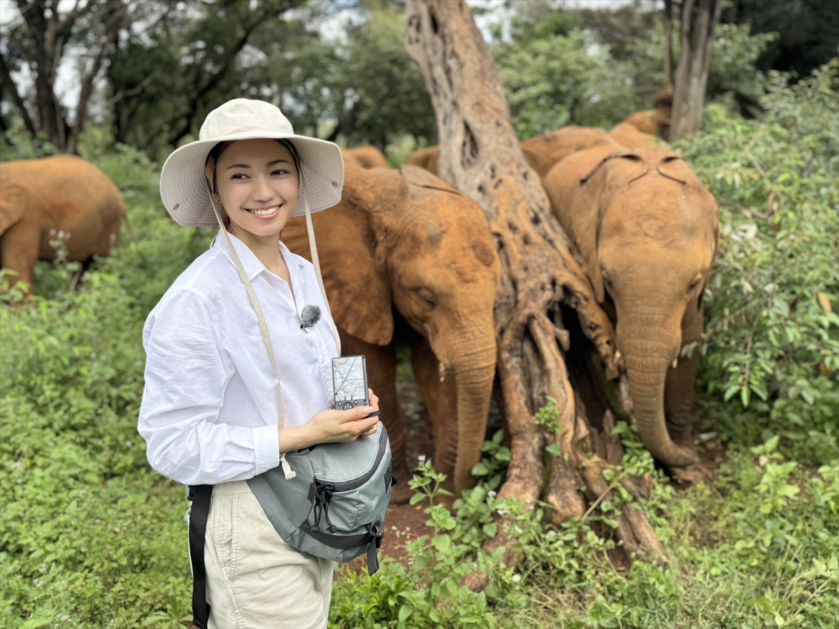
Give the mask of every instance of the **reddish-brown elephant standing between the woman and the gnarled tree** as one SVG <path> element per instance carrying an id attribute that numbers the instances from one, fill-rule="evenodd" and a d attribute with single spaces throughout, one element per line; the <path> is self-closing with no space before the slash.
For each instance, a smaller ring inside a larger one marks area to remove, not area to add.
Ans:
<path id="1" fill-rule="evenodd" d="M 495 376 L 492 322 L 500 262 L 481 209 L 423 169 L 345 164 L 341 203 L 312 215 L 320 266 L 345 356 L 367 356 L 393 450 L 394 502 L 408 500 L 405 435 L 396 401 L 398 342 L 435 432 L 435 467 L 472 486 Z M 305 221 L 283 241 L 310 257 Z"/>

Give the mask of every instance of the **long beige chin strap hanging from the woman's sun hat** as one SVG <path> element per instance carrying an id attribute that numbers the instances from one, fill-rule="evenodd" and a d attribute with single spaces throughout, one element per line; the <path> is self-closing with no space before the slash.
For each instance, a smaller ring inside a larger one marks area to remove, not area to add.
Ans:
<path id="1" fill-rule="evenodd" d="M 239 254 L 236 252 L 236 247 L 233 247 L 233 243 L 230 240 L 230 234 L 227 232 L 227 227 L 224 226 L 224 221 L 221 221 L 221 211 L 218 209 L 218 205 L 216 204 L 216 197 L 213 196 L 212 186 L 210 182 L 212 181 L 213 174 L 216 170 L 215 162 L 210 159 L 207 162 L 206 168 L 204 169 L 204 183 L 206 184 L 207 194 L 210 195 L 210 203 L 212 205 L 213 211 L 216 213 L 216 221 L 218 221 L 218 226 L 221 227 L 221 234 L 224 236 L 225 242 L 227 242 L 227 248 L 230 250 L 231 257 L 233 259 L 233 264 L 236 266 L 237 271 L 239 272 L 239 278 L 242 279 L 242 283 L 245 285 L 245 289 L 248 291 L 248 297 L 251 298 L 251 304 L 253 304 L 253 309 L 257 314 L 257 319 L 259 320 L 259 330 L 262 332 L 263 342 L 265 344 L 265 350 L 268 351 L 268 359 L 271 361 L 271 366 L 274 368 L 274 375 L 277 377 L 277 390 L 279 392 L 279 428 L 283 429 L 285 427 L 285 398 L 283 396 L 283 385 L 279 379 L 279 368 L 277 367 L 277 359 L 274 357 L 274 346 L 271 344 L 271 336 L 268 335 L 268 325 L 265 323 L 265 316 L 263 315 L 262 306 L 259 305 L 259 299 L 257 299 L 257 294 L 253 290 L 253 284 L 251 284 L 251 280 L 248 279 L 248 273 L 245 273 L 245 268 L 242 266 L 242 261 L 239 259 Z M 323 296 L 323 303 L 326 304 L 326 309 L 329 310 L 330 319 L 332 312 L 329 309 L 329 300 L 326 299 L 326 289 L 323 286 L 323 276 L 320 274 L 320 258 L 317 255 L 317 245 L 315 243 L 315 228 L 312 225 L 312 215 L 309 209 L 309 199 L 306 196 L 306 184 L 305 184 L 305 177 L 303 176 L 302 169 L 300 170 L 300 185 L 303 186 L 303 205 L 306 211 L 306 231 L 309 233 L 309 249 L 311 251 L 312 256 L 312 264 L 315 266 L 315 276 L 317 277 L 317 283 L 320 287 L 320 294 Z M 338 355 L 341 355 L 341 337 L 338 335 L 338 328 L 336 327 L 334 321 L 332 323 L 332 335 L 335 337 L 335 346 L 338 351 Z M 297 472 L 291 469 L 289 462 L 285 460 L 285 453 L 282 453 L 279 457 L 279 462 L 283 465 L 283 472 L 285 476 L 285 480 L 290 481 L 297 476 Z"/>

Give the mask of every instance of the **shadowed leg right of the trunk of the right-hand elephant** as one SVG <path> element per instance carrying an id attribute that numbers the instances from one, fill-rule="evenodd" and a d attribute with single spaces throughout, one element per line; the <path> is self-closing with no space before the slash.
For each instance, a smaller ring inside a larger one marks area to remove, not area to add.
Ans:
<path id="1" fill-rule="evenodd" d="M 702 337 L 702 307 L 696 301 L 687 304 L 682 318 L 682 347 L 699 342 Z M 690 403 L 693 401 L 693 386 L 699 367 L 699 348 L 687 358 L 679 357 L 675 369 L 667 370 L 664 382 L 664 413 L 670 439 L 676 444 L 693 447 L 691 434 Z"/>

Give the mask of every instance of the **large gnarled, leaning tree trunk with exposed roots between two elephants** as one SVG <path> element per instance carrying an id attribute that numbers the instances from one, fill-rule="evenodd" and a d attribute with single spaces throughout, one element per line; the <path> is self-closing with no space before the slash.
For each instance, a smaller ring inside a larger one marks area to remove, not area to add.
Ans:
<path id="1" fill-rule="evenodd" d="M 502 278 L 495 303 L 498 375 L 512 460 L 499 496 L 532 507 L 544 497 L 555 507 L 555 523 L 580 517 L 589 501 L 610 491 L 602 471 L 618 463 L 620 444 L 606 429 L 588 423 L 576 402 L 560 344 L 560 304 L 576 308 L 583 330 L 597 347 L 608 377 L 617 376 L 614 330 L 600 309 L 569 241 L 550 214 L 550 203 L 519 148 L 510 124 L 503 86 L 487 44 L 463 0 L 409 0 L 405 44 L 425 78 L 440 137 L 440 175 L 479 205 L 492 226 Z M 567 347 L 565 348 L 567 349 Z M 557 400 L 560 433 L 536 424 L 546 396 Z M 600 420 L 600 418 L 594 418 Z M 599 423 L 599 421 L 598 421 Z M 543 483 L 545 445 L 558 444 L 567 457 L 551 456 Z M 592 456 L 586 452 L 594 452 Z M 576 486 L 582 481 L 586 496 Z M 633 489 L 641 491 L 641 483 Z M 618 536 L 629 551 L 660 544 L 643 515 L 624 509 Z M 492 546 L 507 545 L 499 533 Z M 475 575 L 469 583 L 482 585 Z"/>

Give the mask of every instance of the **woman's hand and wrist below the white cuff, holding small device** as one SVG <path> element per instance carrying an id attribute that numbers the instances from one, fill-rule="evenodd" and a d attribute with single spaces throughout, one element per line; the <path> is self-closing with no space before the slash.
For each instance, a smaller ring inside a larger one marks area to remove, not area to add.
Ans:
<path id="1" fill-rule="evenodd" d="M 367 417 L 378 411 L 378 398 L 368 389 L 370 406 L 358 406 L 348 411 L 327 410 L 315 414 L 302 426 L 284 428 L 278 431 L 279 451 L 300 450 L 315 444 L 355 441 L 367 437 L 378 429 L 378 415 Z"/>

